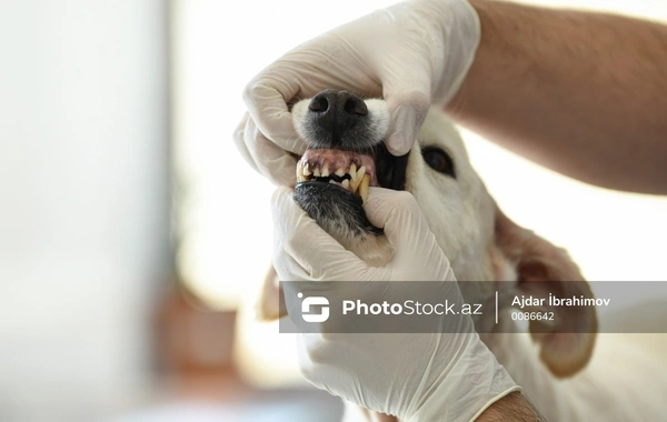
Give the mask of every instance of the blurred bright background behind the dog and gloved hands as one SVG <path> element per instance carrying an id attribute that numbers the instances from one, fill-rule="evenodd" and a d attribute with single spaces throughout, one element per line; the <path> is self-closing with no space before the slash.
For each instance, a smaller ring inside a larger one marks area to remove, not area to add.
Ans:
<path id="1" fill-rule="evenodd" d="M 252 76 L 389 3 L 0 1 L 0 421 L 338 420 L 293 338 L 253 321 L 273 188 L 231 133 Z M 667 199 L 464 133 L 506 213 L 589 280 L 667 280 Z"/>

